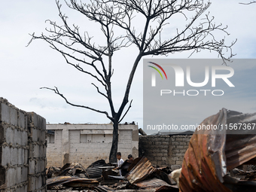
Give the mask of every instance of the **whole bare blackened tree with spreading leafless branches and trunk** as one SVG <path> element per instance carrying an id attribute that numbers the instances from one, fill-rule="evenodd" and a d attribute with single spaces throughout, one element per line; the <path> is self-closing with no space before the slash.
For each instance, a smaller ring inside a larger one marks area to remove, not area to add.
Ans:
<path id="1" fill-rule="evenodd" d="M 209 14 L 200 20 L 210 4 L 203 0 L 91 0 L 88 4 L 76 0 L 66 2 L 69 8 L 79 11 L 88 20 L 99 23 L 105 42 L 95 44 L 88 32 L 80 32 L 78 26 L 68 23 L 68 17 L 62 14 L 62 5 L 59 0 L 56 0 L 62 24 L 59 25 L 48 20 L 51 28 L 46 29 L 47 35 L 32 34 L 32 40 L 46 41 L 53 50 L 62 54 L 69 65 L 98 81 L 98 84 L 93 84 L 93 86 L 108 101 L 111 114 L 108 114 L 107 111 L 69 102 L 69 99 L 62 95 L 57 87 L 43 88 L 53 90 L 69 105 L 105 114 L 114 123 L 110 162 L 116 161 L 118 123 L 123 120 L 131 107 L 132 101 L 128 107 L 126 105 L 129 103 L 134 74 L 143 56 L 167 55 L 184 50 L 193 50 L 193 53 L 200 50 L 215 51 L 224 60 L 229 60 L 233 56 L 231 47 L 235 42 L 226 45 L 224 38 L 220 40 L 215 38 L 214 32 L 229 35 L 226 31 L 227 26 L 216 25 L 214 17 L 209 17 Z M 188 19 L 187 13 L 193 13 L 194 16 Z M 177 14 L 184 17 L 186 23 L 182 29 L 169 32 L 172 35 L 166 37 L 163 34 L 165 30 L 169 30 L 167 29 L 169 21 Z M 135 17 L 144 18 L 143 23 L 139 23 L 139 26 L 143 26 L 141 31 L 136 28 Z M 117 31 L 122 31 L 121 35 L 118 35 Z M 136 45 L 137 56 L 131 64 L 133 67 L 126 83 L 123 100 L 119 108 L 116 109 L 111 93 L 112 58 L 117 50 L 130 45 Z M 224 56 L 224 52 L 227 52 L 229 56 Z M 87 67 L 93 69 L 93 72 L 89 71 Z"/>

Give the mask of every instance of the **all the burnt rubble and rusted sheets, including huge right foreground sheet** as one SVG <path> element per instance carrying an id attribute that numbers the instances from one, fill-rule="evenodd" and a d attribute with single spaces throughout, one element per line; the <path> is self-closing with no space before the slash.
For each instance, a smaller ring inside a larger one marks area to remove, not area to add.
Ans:
<path id="1" fill-rule="evenodd" d="M 191 137 L 181 169 L 152 166 L 146 157 L 120 167 L 117 176 L 104 160 L 85 169 L 80 163 L 50 167 L 47 189 L 236 192 L 256 191 L 256 113 L 242 114 L 223 108 L 206 118 Z M 219 127 L 220 129 L 201 129 Z M 232 125 L 232 126 L 230 126 Z M 238 127 L 242 129 L 238 129 Z M 254 127 L 255 126 L 255 127 Z M 251 165 L 250 170 L 239 169 Z M 51 178 L 50 178 L 51 177 Z"/>

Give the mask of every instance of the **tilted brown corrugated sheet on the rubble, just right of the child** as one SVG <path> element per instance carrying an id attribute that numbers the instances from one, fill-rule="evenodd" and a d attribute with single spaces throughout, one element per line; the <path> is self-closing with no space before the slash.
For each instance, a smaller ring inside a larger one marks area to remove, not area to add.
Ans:
<path id="1" fill-rule="evenodd" d="M 125 178 L 131 184 L 135 184 L 147 178 L 148 175 L 151 175 L 154 171 L 155 168 L 152 166 L 151 162 L 146 157 L 142 157 L 141 160 L 136 163 L 136 166 L 126 174 Z"/>

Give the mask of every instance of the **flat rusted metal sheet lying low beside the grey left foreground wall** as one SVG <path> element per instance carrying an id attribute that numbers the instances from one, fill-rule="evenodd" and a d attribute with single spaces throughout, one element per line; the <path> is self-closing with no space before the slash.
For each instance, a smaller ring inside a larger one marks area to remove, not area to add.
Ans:
<path id="1" fill-rule="evenodd" d="M 69 187 L 95 187 L 99 185 L 99 181 L 88 178 L 77 178 L 70 176 L 59 176 L 47 179 L 47 188 L 65 184 Z"/>

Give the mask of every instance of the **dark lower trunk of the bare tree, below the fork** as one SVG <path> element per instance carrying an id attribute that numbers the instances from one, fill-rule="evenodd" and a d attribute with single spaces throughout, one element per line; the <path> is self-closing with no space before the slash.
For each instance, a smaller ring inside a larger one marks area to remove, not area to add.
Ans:
<path id="1" fill-rule="evenodd" d="M 109 154 L 109 163 L 117 163 L 117 145 L 118 145 L 118 121 L 113 124 L 113 139 L 112 146 Z"/>

